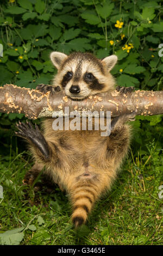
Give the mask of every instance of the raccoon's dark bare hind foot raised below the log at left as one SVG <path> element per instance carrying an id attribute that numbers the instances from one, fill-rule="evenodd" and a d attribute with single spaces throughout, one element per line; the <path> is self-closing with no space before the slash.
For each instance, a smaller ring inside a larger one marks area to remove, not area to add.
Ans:
<path id="1" fill-rule="evenodd" d="M 49 157 L 48 144 L 39 130 L 39 127 L 33 125 L 27 121 L 27 124 L 21 123 L 20 121 L 16 124 L 18 132 L 15 132 L 18 137 L 28 139 L 33 145 L 35 145 L 46 159 Z"/>

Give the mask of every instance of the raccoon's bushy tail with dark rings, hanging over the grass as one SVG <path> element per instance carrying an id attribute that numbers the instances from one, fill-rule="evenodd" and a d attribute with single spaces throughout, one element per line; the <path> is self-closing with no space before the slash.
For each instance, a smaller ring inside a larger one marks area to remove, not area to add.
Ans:
<path id="1" fill-rule="evenodd" d="M 99 196 L 98 188 L 93 184 L 79 184 L 71 193 L 73 214 L 72 222 L 77 228 L 87 220 L 95 200 Z"/>

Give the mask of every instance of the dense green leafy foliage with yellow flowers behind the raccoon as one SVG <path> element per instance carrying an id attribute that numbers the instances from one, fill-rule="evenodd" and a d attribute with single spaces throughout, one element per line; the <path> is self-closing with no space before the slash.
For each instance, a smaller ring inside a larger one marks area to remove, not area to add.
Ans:
<path id="1" fill-rule="evenodd" d="M 98 58 L 118 56 L 118 63 L 111 71 L 118 85 L 162 90 L 163 57 L 158 54 L 161 50 L 158 46 L 163 43 L 162 14 L 159 0 L 3 1 L 0 3 L 0 44 L 3 45 L 0 84 L 13 83 L 27 88 L 50 84 L 56 72 L 49 60 L 52 51 L 66 54 L 89 51 Z M 11 156 L 16 157 L 17 150 L 24 149 L 24 143 L 12 137 L 18 119 L 24 120 L 24 115 L 0 113 L 2 162 L 8 159 L 12 162 Z M 135 168 L 147 178 L 154 175 L 156 187 L 162 182 L 162 124 L 162 115 L 136 117 L 132 124 L 133 161 L 139 161 L 139 156 L 141 163 L 146 165 L 149 161 L 146 173 L 143 164 L 142 169 Z"/>

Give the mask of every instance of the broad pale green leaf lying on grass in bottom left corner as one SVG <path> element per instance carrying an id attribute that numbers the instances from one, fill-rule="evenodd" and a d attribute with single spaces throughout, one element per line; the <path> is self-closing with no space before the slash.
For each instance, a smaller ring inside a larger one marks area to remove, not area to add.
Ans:
<path id="1" fill-rule="evenodd" d="M 24 233 L 22 232 L 23 229 L 24 228 L 15 228 L 5 231 L 3 234 L 0 234 L 0 244 L 19 245 L 24 237 Z"/>

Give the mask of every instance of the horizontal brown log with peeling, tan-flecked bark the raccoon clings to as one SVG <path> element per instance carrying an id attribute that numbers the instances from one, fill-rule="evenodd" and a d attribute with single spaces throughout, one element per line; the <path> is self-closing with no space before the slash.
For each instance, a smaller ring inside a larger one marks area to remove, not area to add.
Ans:
<path id="1" fill-rule="evenodd" d="M 43 94 L 39 90 L 21 88 L 13 84 L 0 87 L 0 112 L 23 113 L 29 119 L 52 117 L 55 111 L 64 115 L 65 107 L 69 112 L 78 111 L 111 111 L 111 116 L 129 114 L 136 115 L 163 114 L 163 91 L 140 91 L 121 94 L 116 90 L 112 93 L 103 93 L 90 96 L 84 101 L 72 101 L 64 92 L 50 92 Z"/>

